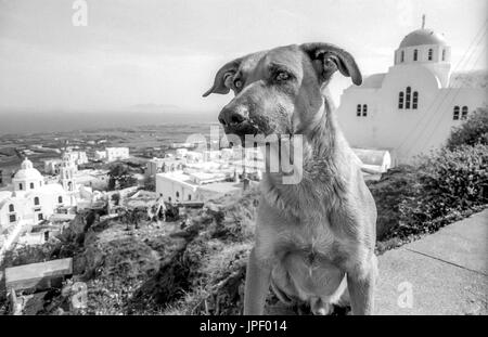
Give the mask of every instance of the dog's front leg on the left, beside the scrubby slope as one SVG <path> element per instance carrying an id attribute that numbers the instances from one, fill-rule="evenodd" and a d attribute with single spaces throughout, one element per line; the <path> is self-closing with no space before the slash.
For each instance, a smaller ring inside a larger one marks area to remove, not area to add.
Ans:
<path id="1" fill-rule="evenodd" d="M 255 249 L 249 254 L 244 293 L 244 314 L 262 314 L 269 290 L 271 270 L 262 267 L 256 259 Z"/>

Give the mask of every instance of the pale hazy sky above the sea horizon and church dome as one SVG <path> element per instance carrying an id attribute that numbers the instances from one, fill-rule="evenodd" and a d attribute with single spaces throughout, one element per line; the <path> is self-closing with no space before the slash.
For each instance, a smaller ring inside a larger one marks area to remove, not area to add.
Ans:
<path id="1" fill-rule="evenodd" d="M 351 52 L 363 74 L 384 73 L 423 13 L 455 66 L 488 10 L 486 0 L 87 0 L 84 27 L 72 23 L 74 2 L 0 0 L 0 106 L 213 111 L 230 98 L 202 93 L 227 61 L 326 41 Z M 486 68 L 485 41 L 459 69 Z M 336 75 L 334 96 L 349 83 Z"/>

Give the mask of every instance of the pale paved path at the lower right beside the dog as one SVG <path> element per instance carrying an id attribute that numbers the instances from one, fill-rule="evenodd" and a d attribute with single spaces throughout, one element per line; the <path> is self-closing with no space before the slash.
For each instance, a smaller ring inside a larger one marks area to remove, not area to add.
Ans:
<path id="1" fill-rule="evenodd" d="M 488 209 L 378 260 L 376 314 L 488 314 Z"/>

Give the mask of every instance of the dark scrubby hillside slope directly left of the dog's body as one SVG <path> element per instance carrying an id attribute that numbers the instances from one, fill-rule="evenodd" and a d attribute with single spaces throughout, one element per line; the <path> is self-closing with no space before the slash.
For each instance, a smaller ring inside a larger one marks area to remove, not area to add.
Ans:
<path id="1" fill-rule="evenodd" d="M 172 233 L 183 243 L 136 291 L 129 311 L 163 314 L 240 314 L 258 191 L 223 197 Z"/>

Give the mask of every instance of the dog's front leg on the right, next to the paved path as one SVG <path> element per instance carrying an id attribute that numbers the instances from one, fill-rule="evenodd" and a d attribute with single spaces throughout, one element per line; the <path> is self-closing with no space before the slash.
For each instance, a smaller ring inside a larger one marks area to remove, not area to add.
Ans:
<path id="1" fill-rule="evenodd" d="M 374 313 L 374 288 L 377 278 L 377 261 L 373 255 L 368 265 L 361 271 L 347 274 L 352 314 L 369 315 Z"/>

